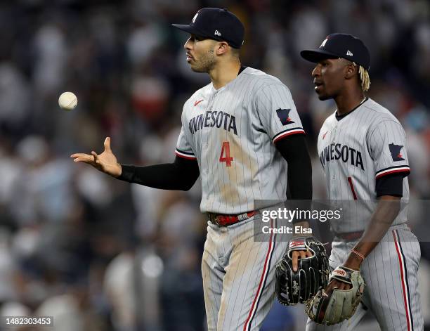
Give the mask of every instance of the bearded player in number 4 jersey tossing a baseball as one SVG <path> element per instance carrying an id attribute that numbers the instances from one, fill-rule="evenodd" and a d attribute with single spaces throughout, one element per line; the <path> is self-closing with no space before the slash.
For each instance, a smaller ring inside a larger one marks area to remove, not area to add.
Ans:
<path id="1" fill-rule="evenodd" d="M 167 190 L 189 190 L 200 175 L 200 209 L 208 218 L 202 257 L 208 329 L 259 330 L 287 242 L 273 234 L 253 240 L 254 201 L 264 200 L 261 207 L 285 201 L 287 183 L 293 199 L 311 199 L 305 132 L 287 86 L 240 64 L 244 27 L 233 13 L 202 8 L 189 25 L 174 27 L 190 34 L 184 48 L 191 70 L 211 78 L 183 106 L 174 162 L 119 164 L 110 138 L 100 155 L 71 157 L 118 179 Z"/>

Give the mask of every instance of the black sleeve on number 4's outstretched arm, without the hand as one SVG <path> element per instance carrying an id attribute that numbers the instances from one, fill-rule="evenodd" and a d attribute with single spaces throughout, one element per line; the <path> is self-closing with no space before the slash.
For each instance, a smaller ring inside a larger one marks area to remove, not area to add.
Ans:
<path id="1" fill-rule="evenodd" d="M 117 179 L 163 190 L 189 190 L 200 175 L 197 161 L 183 157 L 176 157 L 174 163 L 144 167 L 121 164 L 121 167 Z"/>

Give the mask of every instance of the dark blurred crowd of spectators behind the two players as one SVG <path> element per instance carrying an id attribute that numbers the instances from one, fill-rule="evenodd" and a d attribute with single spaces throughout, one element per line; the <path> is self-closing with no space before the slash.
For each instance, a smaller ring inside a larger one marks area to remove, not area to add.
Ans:
<path id="1" fill-rule="evenodd" d="M 183 103 L 209 79 L 190 71 L 188 36 L 170 24 L 204 6 L 233 11 L 246 27 L 242 63 L 292 91 L 315 198 L 325 197 L 316 136 L 334 104 L 315 97 L 313 66 L 299 51 L 331 32 L 363 39 L 368 96 L 403 124 L 411 198 L 429 199 L 427 0 L 1 1 L 0 316 L 54 316 L 51 330 L 204 330 L 200 182 L 186 193 L 154 190 L 69 157 L 101 152 L 110 136 L 122 163 L 174 160 Z M 77 109 L 58 108 L 63 91 L 77 94 Z M 303 330 L 303 322 L 302 309 L 275 305 L 264 330 Z"/>

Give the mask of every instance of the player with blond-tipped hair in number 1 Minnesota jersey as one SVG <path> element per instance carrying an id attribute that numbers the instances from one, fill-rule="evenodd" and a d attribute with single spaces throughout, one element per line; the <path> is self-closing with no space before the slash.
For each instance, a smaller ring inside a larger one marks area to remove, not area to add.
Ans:
<path id="1" fill-rule="evenodd" d="M 335 271 L 325 292 L 350 290 L 348 276 L 339 275 L 351 271 L 360 271 L 366 283 L 350 320 L 329 327 L 309 319 L 306 330 L 353 330 L 367 309 L 383 331 L 423 330 L 419 243 L 401 204 L 409 200 L 405 131 L 389 110 L 364 94 L 370 86 L 370 54 L 363 41 L 330 34 L 320 48 L 301 51 L 301 56 L 317 63 L 312 77 L 318 98 L 333 98 L 337 105 L 318 136 L 329 199 L 358 203 L 350 205 L 355 212 L 331 223 Z"/>

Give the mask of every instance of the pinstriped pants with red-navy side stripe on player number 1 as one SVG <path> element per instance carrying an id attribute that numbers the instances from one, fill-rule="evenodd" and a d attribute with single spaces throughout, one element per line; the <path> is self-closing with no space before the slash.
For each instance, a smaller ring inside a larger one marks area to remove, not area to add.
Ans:
<path id="1" fill-rule="evenodd" d="M 346 261 L 356 242 L 333 242 L 330 266 Z M 362 303 L 344 323 L 323 326 L 308 319 L 306 331 L 354 330 L 372 311 L 382 331 L 422 331 L 424 321 L 418 289 L 418 264 L 421 250 L 408 226 L 391 226 L 377 247 L 361 265 L 366 283 Z"/>

